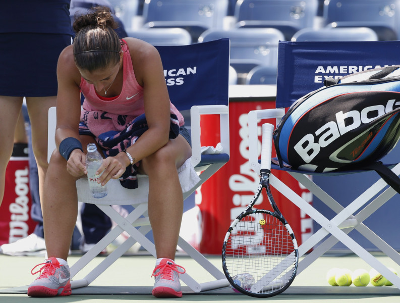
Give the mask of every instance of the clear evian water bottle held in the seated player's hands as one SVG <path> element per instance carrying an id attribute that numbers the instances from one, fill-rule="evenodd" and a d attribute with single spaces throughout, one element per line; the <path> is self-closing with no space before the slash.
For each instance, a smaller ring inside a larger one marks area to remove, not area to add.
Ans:
<path id="1" fill-rule="evenodd" d="M 103 157 L 97 150 L 96 144 L 87 144 L 87 155 L 86 155 L 86 169 L 87 169 L 87 179 L 89 181 L 89 188 L 92 191 L 93 197 L 102 198 L 107 195 L 108 189 L 107 184 L 101 185 L 97 183 L 98 178 L 101 175 L 96 176 L 97 169 L 103 163 Z"/>

